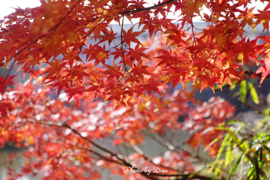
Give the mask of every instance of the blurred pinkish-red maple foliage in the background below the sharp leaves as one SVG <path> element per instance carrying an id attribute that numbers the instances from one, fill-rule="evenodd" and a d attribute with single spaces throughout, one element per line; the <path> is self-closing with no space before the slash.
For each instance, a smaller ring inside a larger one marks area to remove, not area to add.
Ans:
<path id="1" fill-rule="evenodd" d="M 80 106 L 75 101 L 68 105 L 68 95 L 56 99 L 49 88 L 43 89 L 32 82 L 18 84 L 3 95 L 9 116 L 1 117 L 0 147 L 9 144 L 23 148 L 24 161 L 19 173 L 9 168 L 7 178 L 38 174 L 41 179 L 100 179 L 104 178 L 100 168 L 109 169 L 112 174 L 126 179 L 164 176 L 164 173 L 124 173 L 123 168 L 126 166 L 139 169 L 158 167 L 167 170 L 166 175 L 175 177 L 183 172 L 190 175 L 195 172 L 192 162 L 202 162 L 196 160 L 191 151 L 179 148 L 171 141 L 173 139 L 167 139 L 167 135 L 177 135 L 179 131 L 189 128 L 192 136 L 181 142 L 181 145 L 189 145 L 191 150 L 197 149 L 197 146 L 204 146 L 222 133 L 219 130 L 212 131 L 211 135 L 205 133 L 196 139 L 198 134 L 209 127 L 207 123 L 215 126 L 234 115 L 232 106 L 223 99 L 213 98 L 203 104 L 196 102 L 192 98 L 194 90 L 177 90 L 164 95 L 165 98 L 156 94 L 153 95 L 154 103 L 143 100 L 140 106 L 133 99 L 129 106 L 126 107 L 122 102 L 121 107 L 113 110 L 113 102 L 89 103 L 82 99 Z M 199 117 L 205 109 L 205 114 Z M 213 116 L 205 117 L 207 115 Z M 183 123 L 178 121 L 179 116 L 185 117 Z M 191 122 L 195 124 L 189 125 Z M 146 140 L 146 133 L 155 143 L 167 147 L 164 154 L 151 157 L 142 152 L 138 146 Z M 99 143 L 108 139 L 112 139 L 111 148 Z M 219 144 L 217 142 L 209 150 L 210 155 L 213 155 L 213 151 L 217 152 Z M 123 147 L 130 152 L 125 155 L 120 150 Z M 5 164 L 12 164 L 14 157 L 9 156 Z"/>

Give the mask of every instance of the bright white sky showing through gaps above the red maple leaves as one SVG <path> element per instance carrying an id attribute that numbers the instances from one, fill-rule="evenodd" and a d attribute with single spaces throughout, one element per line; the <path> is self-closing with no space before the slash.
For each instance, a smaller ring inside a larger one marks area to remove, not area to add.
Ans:
<path id="1" fill-rule="evenodd" d="M 259 9 L 259 10 L 264 9 L 265 5 L 267 4 L 267 2 L 265 2 L 263 4 L 263 3 L 259 2 L 259 1 L 257 1 L 256 4 L 255 4 L 254 3 L 255 0 L 252 0 L 252 1 L 253 1 L 253 3 L 252 4 L 249 4 L 249 7 L 251 8 L 251 7 L 256 6 L 255 9 Z M 158 0 L 148 0 L 149 5 L 146 5 L 146 6 L 152 6 L 153 3 L 157 4 L 157 2 L 158 2 Z M 14 9 L 13 8 L 17 8 L 17 6 L 19 6 L 22 9 L 24 9 L 26 7 L 34 8 L 34 7 L 37 7 L 37 6 L 40 6 L 40 5 L 41 4 L 40 4 L 39 0 L 0 0 L 0 19 L 3 19 L 4 16 L 11 14 L 11 12 L 14 12 Z M 210 11 L 205 11 L 204 10 L 203 12 L 205 14 L 210 15 Z M 167 18 L 169 18 L 169 19 L 175 19 L 175 18 L 177 18 L 177 16 L 178 15 L 173 15 L 171 13 L 171 14 L 169 14 L 167 16 Z M 200 20 L 199 17 L 193 19 L 193 21 L 199 21 L 199 20 Z M 136 23 L 135 21 L 136 20 L 134 20 L 133 23 Z M 126 18 L 126 21 L 124 21 L 124 23 L 130 24 L 130 22 L 127 20 L 127 18 Z"/>

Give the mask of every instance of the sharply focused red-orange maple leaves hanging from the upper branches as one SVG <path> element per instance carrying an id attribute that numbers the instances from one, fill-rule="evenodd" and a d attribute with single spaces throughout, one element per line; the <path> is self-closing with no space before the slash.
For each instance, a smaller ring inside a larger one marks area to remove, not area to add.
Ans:
<path id="1" fill-rule="evenodd" d="M 78 101 L 85 93 L 94 92 L 91 99 L 103 97 L 120 101 L 151 99 L 152 91 L 179 82 L 200 83 L 201 90 L 232 80 L 246 78 L 241 72 L 245 64 L 258 65 L 258 57 L 268 58 L 268 36 L 249 40 L 245 26 L 255 28 L 263 22 L 268 32 L 269 4 L 258 14 L 252 14 L 249 1 L 183 1 L 158 2 L 152 6 L 144 1 L 42 1 L 36 8 L 15 9 L 1 23 L 1 66 L 18 68 L 31 78 L 43 77 L 43 83 L 69 94 Z M 172 8 L 174 6 L 174 9 Z M 200 12 L 207 8 L 211 15 Z M 179 23 L 168 19 L 168 13 L 180 13 Z M 194 32 L 194 16 L 208 23 L 207 28 Z M 123 20 L 139 18 L 136 28 L 123 28 Z M 220 20 L 222 19 L 222 20 Z M 116 21 L 121 32 L 114 32 L 110 23 Z M 187 27 L 185 24 L 187 23 Z M 136 29 L 136 30 L 135 30 Z M 149 31 L 163 34 L 155 48 L 148 48 L 138 36 Z M 192 30 L 192 35 L 190 34 Z M 121 38 L 119 44 L 116 37 Z M 258 39 L 265 43 L 258 44 Z M 89 39 L 93 43 L 89 43 Z M 106 43 L 108 42 L 108 43 Z M 164 46 L 166 44 L 166 47 Z M 86 54 L 86 59 L 82 55 Z M 119 60 L 120 59 L 120 60 Z M 41 64 L 45 68 L 41 68 Z M 36 65 L 40 71 L 36 70 Z M 101 68 L 101 66 L 103 68 Z M 112 66 L 113 65 L 113 66 Z M 264 68 L 264 69 L 262 69 Z M 262 66 L 262 80 L 268 69 Z M 255 74 L 255 73 L 254 73 Z M 3 93 L 12 84 L 11 77 L 1 85 Z M 79 101 L 78 101 L 79 103 Z"/>

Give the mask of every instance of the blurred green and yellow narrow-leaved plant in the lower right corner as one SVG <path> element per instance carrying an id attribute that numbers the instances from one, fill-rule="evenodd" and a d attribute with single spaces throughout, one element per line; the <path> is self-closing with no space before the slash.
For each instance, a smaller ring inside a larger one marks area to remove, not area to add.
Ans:
<path id="1" fill-rule="evenodd" d="M 206 130 L 224 130 L 217 157 L 211 164 L 212 169 L 215 169 L 212 179 L 215 179 L 218 174 L 224 174 L 222 171 L 228 172 L 227 180 L 232 179 L 232 176 L 247 180 L 267 179 L 270 175 L 270 116 L 260 117 L 261 120 L 256 126 L 232 120 Z M 221 137 L 214 141 L 219 139 Z"/>

